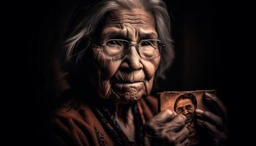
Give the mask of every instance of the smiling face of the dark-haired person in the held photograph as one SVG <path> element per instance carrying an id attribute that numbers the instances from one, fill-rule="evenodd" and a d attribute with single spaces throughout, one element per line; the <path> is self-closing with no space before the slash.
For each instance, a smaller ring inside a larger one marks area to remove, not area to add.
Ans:
<path id="1" fill-rule="evenodd" d="M 182 99 L 178 101 L 176 112 L 186 116 L 186 123 L 191 123 L 194 119 L 195 106 L 190 99 Z"/>

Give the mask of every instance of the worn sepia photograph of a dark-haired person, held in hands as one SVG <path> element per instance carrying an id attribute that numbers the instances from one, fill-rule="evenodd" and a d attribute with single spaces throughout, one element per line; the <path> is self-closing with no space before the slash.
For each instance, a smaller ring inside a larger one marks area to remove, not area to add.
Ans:
<path id="1" fill-rule="evenodd" d="M 211 111 L 206 98 L 209 95 L 217 99 L 216 90 L 165 91 L 158 95 L 159 112 L 170 110 L 176 115 L 186 117 L 185 126 L 189 130 L 189 145 L 211 145 L 207 138 L 208 131 L 203 130 L 200 120 L 206 118 L 203 115 L 207 115 L 208 111 Z"/>

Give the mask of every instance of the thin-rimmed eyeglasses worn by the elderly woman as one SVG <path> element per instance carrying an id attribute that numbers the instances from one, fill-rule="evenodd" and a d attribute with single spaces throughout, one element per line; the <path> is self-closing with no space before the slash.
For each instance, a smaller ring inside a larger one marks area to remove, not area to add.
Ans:
<path id="1" fill-rule="evenodd" d="M 91 39 L 89 39 L 89 41 L 94 42 Z M 123 58 L 124 55 L 129 53 L 131 46 L 135 46 L 141 58 L 152 60 L 159 57 L 162 52 L 162 47 L 165 47 L 165 44 L 159 39 L 143 39 L 139 44 L 124 39 L 108 39 L 104 44 L 94 43 L 103 46 L 106 57 L 112 59 Z"/>

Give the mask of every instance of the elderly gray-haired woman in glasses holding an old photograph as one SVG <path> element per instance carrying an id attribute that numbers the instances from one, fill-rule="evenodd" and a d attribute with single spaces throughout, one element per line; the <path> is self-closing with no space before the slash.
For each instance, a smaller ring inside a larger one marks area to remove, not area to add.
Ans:
<path id="1" fill-rule="evenodd" d="M 150 96 L 174 56 L 165 4 L 104 0 L 80 16 L 64 43 L 62 66 L 71 88 L 53 115 L 56 145 L 188 145 L 187 118 L 157 113 Z M 207 97 L 223 109 L 216 97 Z M 225 139 L 215 128 L 223 126 L 222 118 L 197 114 L 214 144 Z"/>

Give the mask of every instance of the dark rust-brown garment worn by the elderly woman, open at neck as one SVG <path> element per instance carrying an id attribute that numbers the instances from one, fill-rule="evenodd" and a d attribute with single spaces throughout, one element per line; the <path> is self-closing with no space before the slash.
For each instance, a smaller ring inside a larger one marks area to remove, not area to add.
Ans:
<path id="1" fill-rule="evenodd" d="M 56 145 L 140 145 L 139 131 L 143 123 L 157 114 L 157 98 L 154 96 L 142 98 L 133 104 L 133 115 L 137 119 L 135 136 L 138 139 L 130 142 L 118 123 L 111 118 L 108 113 L 111 110 L 105 101 L 86 103 L 71 94 L 64 99 L 53 114 L 52 138 Z"/>

